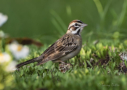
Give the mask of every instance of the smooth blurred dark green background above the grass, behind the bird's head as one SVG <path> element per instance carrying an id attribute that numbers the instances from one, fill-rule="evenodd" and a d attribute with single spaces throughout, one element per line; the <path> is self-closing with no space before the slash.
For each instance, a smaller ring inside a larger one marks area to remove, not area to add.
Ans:
<path id="1" fill-rule="evenodd" d="M 0 27 L 11 37 L 51 44 L 79 19 L 88 24 L 83 40 L 127 38 L 127 0 L 0 0 L 8 21 Z"/>

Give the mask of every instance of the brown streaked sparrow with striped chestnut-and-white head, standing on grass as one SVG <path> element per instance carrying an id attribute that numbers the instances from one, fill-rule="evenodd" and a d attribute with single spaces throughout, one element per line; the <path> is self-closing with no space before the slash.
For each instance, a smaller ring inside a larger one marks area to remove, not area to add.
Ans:
<path id="1" fill-rule="evenodd" d="M 68 66 L 65 61 L 76 56 L 82 48 L 81 32 L 85 26 L 87 24 L 81 20 L 73 20 L 70 22 L 66 34 L 49 46 L 39 57 L 22 62 L 16 67 L 19 69 L 34 62 L 38 62 L 37 65 L 41 65 L 48 61 L 53 61 L 59 63 L 61 72 L 65 72 L 64 66 Z"/>

